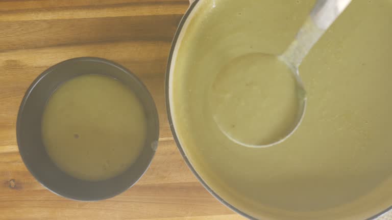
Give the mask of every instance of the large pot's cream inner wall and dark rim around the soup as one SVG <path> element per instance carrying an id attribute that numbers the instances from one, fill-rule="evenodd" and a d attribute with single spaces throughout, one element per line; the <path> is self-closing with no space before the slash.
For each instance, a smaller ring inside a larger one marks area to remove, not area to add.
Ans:
<path id="1" fill-rule="evenodd" d="M 172 79 L 173 79 L 173 71 L 174 71 L 174 66 L 175 66 L 175 59 L 176 59 L 176 52 L 178 50 L 179 44 L 181 43 L 182 35 L 184 35 L 185 29 L 187 28 L 187 24 L 190 22 L 190 20 L 193 19 L 194 11 L 197 10 L 198 4 L 202 3 L 203 1 L 210 1 L 210 0 L 190 0 L 190 6 L 183 16 L 179 26 L 178 30 L 175 34 L 173 44 L 171 45 L 171 50 L 169 54 L 169 59 L 168 59 L 168 64 L 167 64 L 167 69 L 166 69 L 166 81 L 165 81 L 165 98 L 166 98 L 166 109 L 167 109 L 167 115 L 168 115 L 168 121 L 170 124 L 171 131 L 173 132 L 174 140 L 178 146 L 178 149 L 183 156 L 185 162 L 187 163 L 188 167 L 190 170 L 193 172 L 193 174 L 197 177 L 197 179 L 203 184 L 203 186 L 209 191 L 210 194 L 212 194 L 219 202 L 223 203 L 233 211 L 237 212 L 238 214 L 247 217 L 249 219 L 260 219 L 259 216 L 252 216 L 252 214 L 246 213 L 243 211 L 241 208 L 235 207 L 225 199 L 223 199 L 222 196 L 220 196 L 216 191 L 214 191 L 207 183 L 206 181 L 202 178 L 202 176 L 198 173 L 198 171 L 194 168 L 192 165 L 191 161 L 189 160 L 187 154 L 185 153 L 186 150 L 184 149 L 184 146 L 181 144 L 181 139 L 179 138 L 178 131 L 176 130 L 176 123 L 174 120 L 174 114 L 173 114 L 173 85 L 172 85 Z M 213 1 L 213 0 L 211 0 Z M 389 207 L 388 209 L 374 215 L 371 218 L 368 219 L 375 219 L 382 214 L 386 213 L 388 210 L 392 209 L 392 207 Z M 331 215 L 332 216 L 332 215 Z M 295 219 L 295 216 L 292 216 Z M 325 216 L 324 216 L 325 217 Z M 285 219 L 293 219 L 291 217 L 287 217 Z M 282 218 L 265 218 L 265 219 L 282 219 Z M 324 218 L 323 218 L 324 219 Z M 329 218 L 333 219 L 333 217 Z M 350 218 L 351 219 L 351 218 Z M 353 219 L 358 219 L 358 218 L 353 218 Z M 363 218 L 361 218 L 363 219 Z"/>

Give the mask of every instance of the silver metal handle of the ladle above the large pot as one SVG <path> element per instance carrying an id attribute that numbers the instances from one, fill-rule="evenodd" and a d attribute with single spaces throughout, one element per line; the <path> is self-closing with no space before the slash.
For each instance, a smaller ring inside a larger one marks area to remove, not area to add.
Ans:
<path id="1" fill-rule="evenodd" d="M 192 0 L 190 0 L 192 1 Z M 280 56 L 286 64 L 297 70 L 309 50 L 346 9 L 352 0 L 318 0 L 296 39 Z M 296 72 L 296 71 L 295 71 Z"/>

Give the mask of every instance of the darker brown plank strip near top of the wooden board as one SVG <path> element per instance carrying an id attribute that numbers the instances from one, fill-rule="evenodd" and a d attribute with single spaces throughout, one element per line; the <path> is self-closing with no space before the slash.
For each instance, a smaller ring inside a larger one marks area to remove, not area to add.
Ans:
<path id="1" fill-rule="evenodd" d="M 181 15 L 155 15 L 3 21 L 0 51 L 116 41 L 171 42 L 180 19 Z"/>

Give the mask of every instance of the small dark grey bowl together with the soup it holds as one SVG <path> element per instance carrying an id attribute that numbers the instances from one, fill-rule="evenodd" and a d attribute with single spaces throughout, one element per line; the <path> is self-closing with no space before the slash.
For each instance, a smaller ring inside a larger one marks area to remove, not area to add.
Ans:
<path id="1" fill-rule="evenodd" d="M 31 174 L 74 200 L 116 196 L 150 166 L 158 145 L 153 98 L 124 67 L 75 58 L 45 70 L 21 102 L 19 153 Z"/>

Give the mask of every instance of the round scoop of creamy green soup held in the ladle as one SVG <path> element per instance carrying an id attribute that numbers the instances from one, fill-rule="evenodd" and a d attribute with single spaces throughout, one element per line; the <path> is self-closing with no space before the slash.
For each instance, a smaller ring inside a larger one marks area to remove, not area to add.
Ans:
<path id="1" fill-rule="evenodd" d="M 208 93 L 216 125 L 242 145 L 283 140 L 299 123 L 304 105 L 295 74 L 278 56 L 265 53 L 233 59 L 217 74 Z"/>

